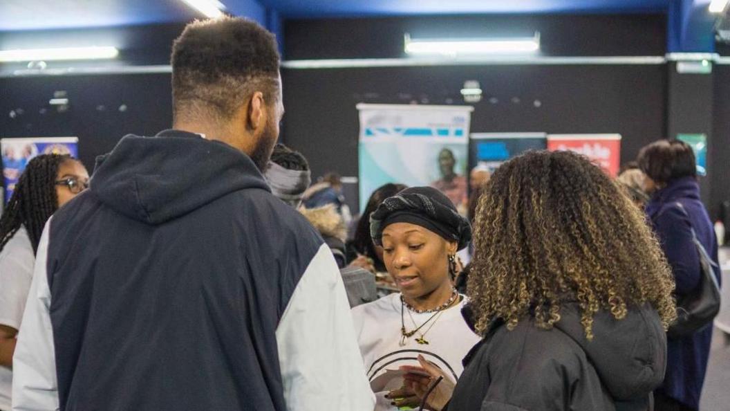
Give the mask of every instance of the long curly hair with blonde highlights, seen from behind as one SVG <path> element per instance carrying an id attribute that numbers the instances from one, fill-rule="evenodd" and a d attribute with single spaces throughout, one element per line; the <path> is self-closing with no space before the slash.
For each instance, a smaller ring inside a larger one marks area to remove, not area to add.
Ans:
<path id="1" fill-rule="evenodd" d="M 525 317 L 552 328 L 569 302 L 588 339 L 602 309 L 621 320 L 650 303 L 664 328 L 675 319 L 672 272 L 645 216 L 588 159 L 529 151 L 484 190 L 468 282 L 477 331 L 497 319 L 511 330 Z"/>

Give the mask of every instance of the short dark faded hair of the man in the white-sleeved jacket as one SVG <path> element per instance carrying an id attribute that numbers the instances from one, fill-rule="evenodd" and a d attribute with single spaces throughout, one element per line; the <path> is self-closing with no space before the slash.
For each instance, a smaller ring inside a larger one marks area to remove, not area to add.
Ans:
<path id="1" fill-rule="evenodd" d="M 223 17 L 188 24 L 172 45 L 173 115 L 230 119 L 255 91 L 279 96 L 274 35 L 252 20 Z"/>

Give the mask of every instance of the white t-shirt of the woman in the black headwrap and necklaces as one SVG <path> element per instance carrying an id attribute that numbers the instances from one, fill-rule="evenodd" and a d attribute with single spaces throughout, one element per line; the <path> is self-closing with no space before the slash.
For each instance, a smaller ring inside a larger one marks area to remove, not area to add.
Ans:
<path id="1" fill-rule="evenodd" d="M 427 361 L 436 364 L 452 378 L 457 380 L 464 371 L 461 360 L 479 342 L 475 334 L 461 317 L 461 302 L 446 309 L 423 326 L 401 346 L 401 294 L 386 295 L 377 301 L 353 308 L 355 331 L 363 355 L 368 379 L 372 382 L 388 369 L 399 366 L 415 365 L 419 354 Z M 402 319 L 406 331 L 412 331 L 429 320 L 434 313 L 410 312 L 404 307 Z M 423 335 L 429 344 L 418 344 L 415 340 Z M 376 393 L 375 410 L 398 410 L 385 399 L 387 391 Z"/>

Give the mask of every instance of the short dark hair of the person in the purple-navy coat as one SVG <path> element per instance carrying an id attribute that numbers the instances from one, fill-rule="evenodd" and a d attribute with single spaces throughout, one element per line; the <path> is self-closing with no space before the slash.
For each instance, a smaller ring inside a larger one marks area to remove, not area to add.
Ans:
<path id="1" fill-rule="evenodd" d="M 682 140 L 658 140 L 639 151 L 639 168 L 657 183 L 696 177 L 694 151 Z"/>

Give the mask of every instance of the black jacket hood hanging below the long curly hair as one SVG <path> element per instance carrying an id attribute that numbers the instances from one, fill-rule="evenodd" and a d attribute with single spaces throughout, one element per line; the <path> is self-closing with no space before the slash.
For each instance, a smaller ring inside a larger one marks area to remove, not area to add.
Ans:
<path id="1" fill-rule="evenodd" d="M 602 383 L 614 399 L 645 396 L 664 380 L 666 333 L 657 312 L 648 304 L 629 309 L 623 320 L 607 310 L 593 319 L 593 340 L 585 337 L 577 304 L 563 306 L 555 328 L 583 348 Z"/>

